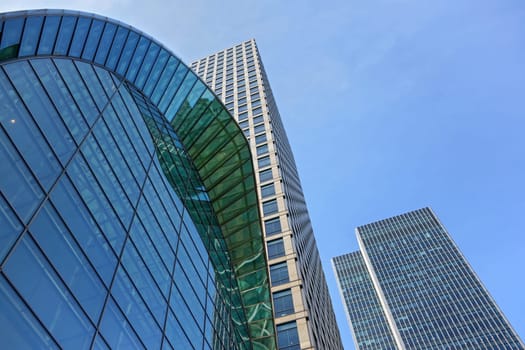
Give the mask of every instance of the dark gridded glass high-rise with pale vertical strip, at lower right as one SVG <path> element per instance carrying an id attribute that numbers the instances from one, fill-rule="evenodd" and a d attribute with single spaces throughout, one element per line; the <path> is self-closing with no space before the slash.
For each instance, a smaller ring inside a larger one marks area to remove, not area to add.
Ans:
<path id="1" fill-rule="evenodd" d="M 431 209 L 356 234 L 332 263 L 357 349 L 525 349 Z"/>

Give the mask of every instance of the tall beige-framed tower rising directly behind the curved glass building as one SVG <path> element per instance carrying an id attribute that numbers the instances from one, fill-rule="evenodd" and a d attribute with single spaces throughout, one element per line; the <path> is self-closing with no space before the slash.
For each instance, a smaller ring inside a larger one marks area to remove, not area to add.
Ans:
<path id="1" fill-rule="evenodd" d="M 255 40 L 191 65 L 249 139 L 280 349 L 342 349 L 295 160 Z"/>

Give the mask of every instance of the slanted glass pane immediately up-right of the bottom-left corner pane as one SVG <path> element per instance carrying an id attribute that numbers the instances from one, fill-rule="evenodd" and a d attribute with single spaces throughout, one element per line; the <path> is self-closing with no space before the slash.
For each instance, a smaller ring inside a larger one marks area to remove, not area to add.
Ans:
<path id="1" fill-rule="evenodd" d="M 4 272 L 63 348 L 89 347 L 93 325 L 28 235 L 7 260 Z"/>

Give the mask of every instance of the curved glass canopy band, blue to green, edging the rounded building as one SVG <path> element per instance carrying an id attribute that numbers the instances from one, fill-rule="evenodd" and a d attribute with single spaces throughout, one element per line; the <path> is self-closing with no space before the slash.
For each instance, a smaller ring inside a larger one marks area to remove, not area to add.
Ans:
<path id="1" fill-rule="evenodd" d="M 9 30 L 9 35 L 2 35 Z M 252 156 L 236 121 L 170 50 L 122 22 L 70 10 L 0 14 L 0 62 L 69 57 L 101 66 L 150 99 L 206 187 L 231 258 L 253 347 L 276 347 Z"/>

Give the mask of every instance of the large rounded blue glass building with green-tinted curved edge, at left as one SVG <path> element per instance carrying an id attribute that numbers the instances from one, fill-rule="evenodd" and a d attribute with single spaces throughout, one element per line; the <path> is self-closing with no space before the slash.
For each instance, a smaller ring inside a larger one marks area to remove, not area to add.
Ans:
<path id="1" fill-rule="evenodd" d="M 274 349 L 250 149 L 123 23 L 0 14 L 0 344 Z"/>

